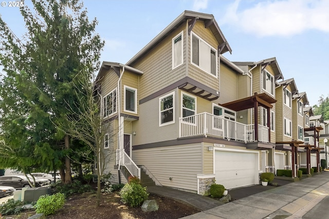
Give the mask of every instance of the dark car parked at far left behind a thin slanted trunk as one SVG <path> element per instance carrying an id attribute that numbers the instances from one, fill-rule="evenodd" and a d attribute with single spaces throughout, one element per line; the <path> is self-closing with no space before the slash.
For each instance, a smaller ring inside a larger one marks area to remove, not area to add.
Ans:
<path id="1" fill-rule="evenodd" d="M 30 181 L 33 181 L 30 176 Z M 35 187 L 49 185 L 50 182 L 47 179 L 35 178 Z M 26 176 L 21 175 L 11 175 L 11 176 L 0 176 L 0 186 L 11 186 L 15 189 L 22 189 L 24 187 L 29 188 L 30 184 Z"/>

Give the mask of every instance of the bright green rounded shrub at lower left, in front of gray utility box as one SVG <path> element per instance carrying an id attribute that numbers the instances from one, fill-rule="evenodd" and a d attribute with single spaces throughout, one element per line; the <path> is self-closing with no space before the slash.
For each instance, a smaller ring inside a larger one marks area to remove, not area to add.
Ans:
<path id="1" fill-rule="evenodd" d="M 63 208 L 64 203 L 65 203 L 65 195 L 63 193 L 56 193 L 53 195 L 42 195 L 39 197 L 34 208 L 36 213 L 44 213 L 45 215 L 49 215 Z"/>

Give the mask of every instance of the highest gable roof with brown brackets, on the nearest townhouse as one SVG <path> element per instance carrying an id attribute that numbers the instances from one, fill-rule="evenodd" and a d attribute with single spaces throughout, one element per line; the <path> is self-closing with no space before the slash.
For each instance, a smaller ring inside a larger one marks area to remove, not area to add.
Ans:
<path id="1" fill-rule="evenodd" d="M 158 43 L 165 39 L 172 31 L 176 30 L 181 24 L 185 23 L 187 20 L 189 22 L 189 29 L 193 28 L 193 22 L 204 21 L 205 27 L 209 27 L 212 31 L 217 42 L 222 45 L 221 53 L 229 51 L 232 52 L 230 45 L 228 44 L 225 36 L 218 26 L 212 14 L 199 13 L 194 11 L 184 11 L 181 13 L 172 23 L 170 23 L 165 29 L 163 29 L 155 38 L 148 43 L 144 48 L 142 48 L 131 60 L 129 60 L 126 65 L 134 65 L 145 53 L 154 48 Z"/>

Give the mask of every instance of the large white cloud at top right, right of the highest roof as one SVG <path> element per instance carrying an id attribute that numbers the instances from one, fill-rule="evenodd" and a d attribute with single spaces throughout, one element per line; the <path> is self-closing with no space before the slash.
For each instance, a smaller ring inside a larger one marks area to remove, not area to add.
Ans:
<path id="1" fill-rule="evenodd" d="M 220 24 L 234 25 L 258 36 L 290 36 L 316 29 L 329 32 L 329 1 L 264 1 L 239 10 L 236 0 L 226 10 Z"/>

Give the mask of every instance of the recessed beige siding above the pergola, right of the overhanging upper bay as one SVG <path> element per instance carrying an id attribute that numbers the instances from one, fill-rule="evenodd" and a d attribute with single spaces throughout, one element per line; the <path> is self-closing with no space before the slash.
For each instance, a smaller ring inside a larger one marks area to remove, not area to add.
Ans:
<path id="1" fill-rule="evenodd" d="M 220 104 L 237 100 L 237 75 L 226 65 L 221 64 Z"/>

